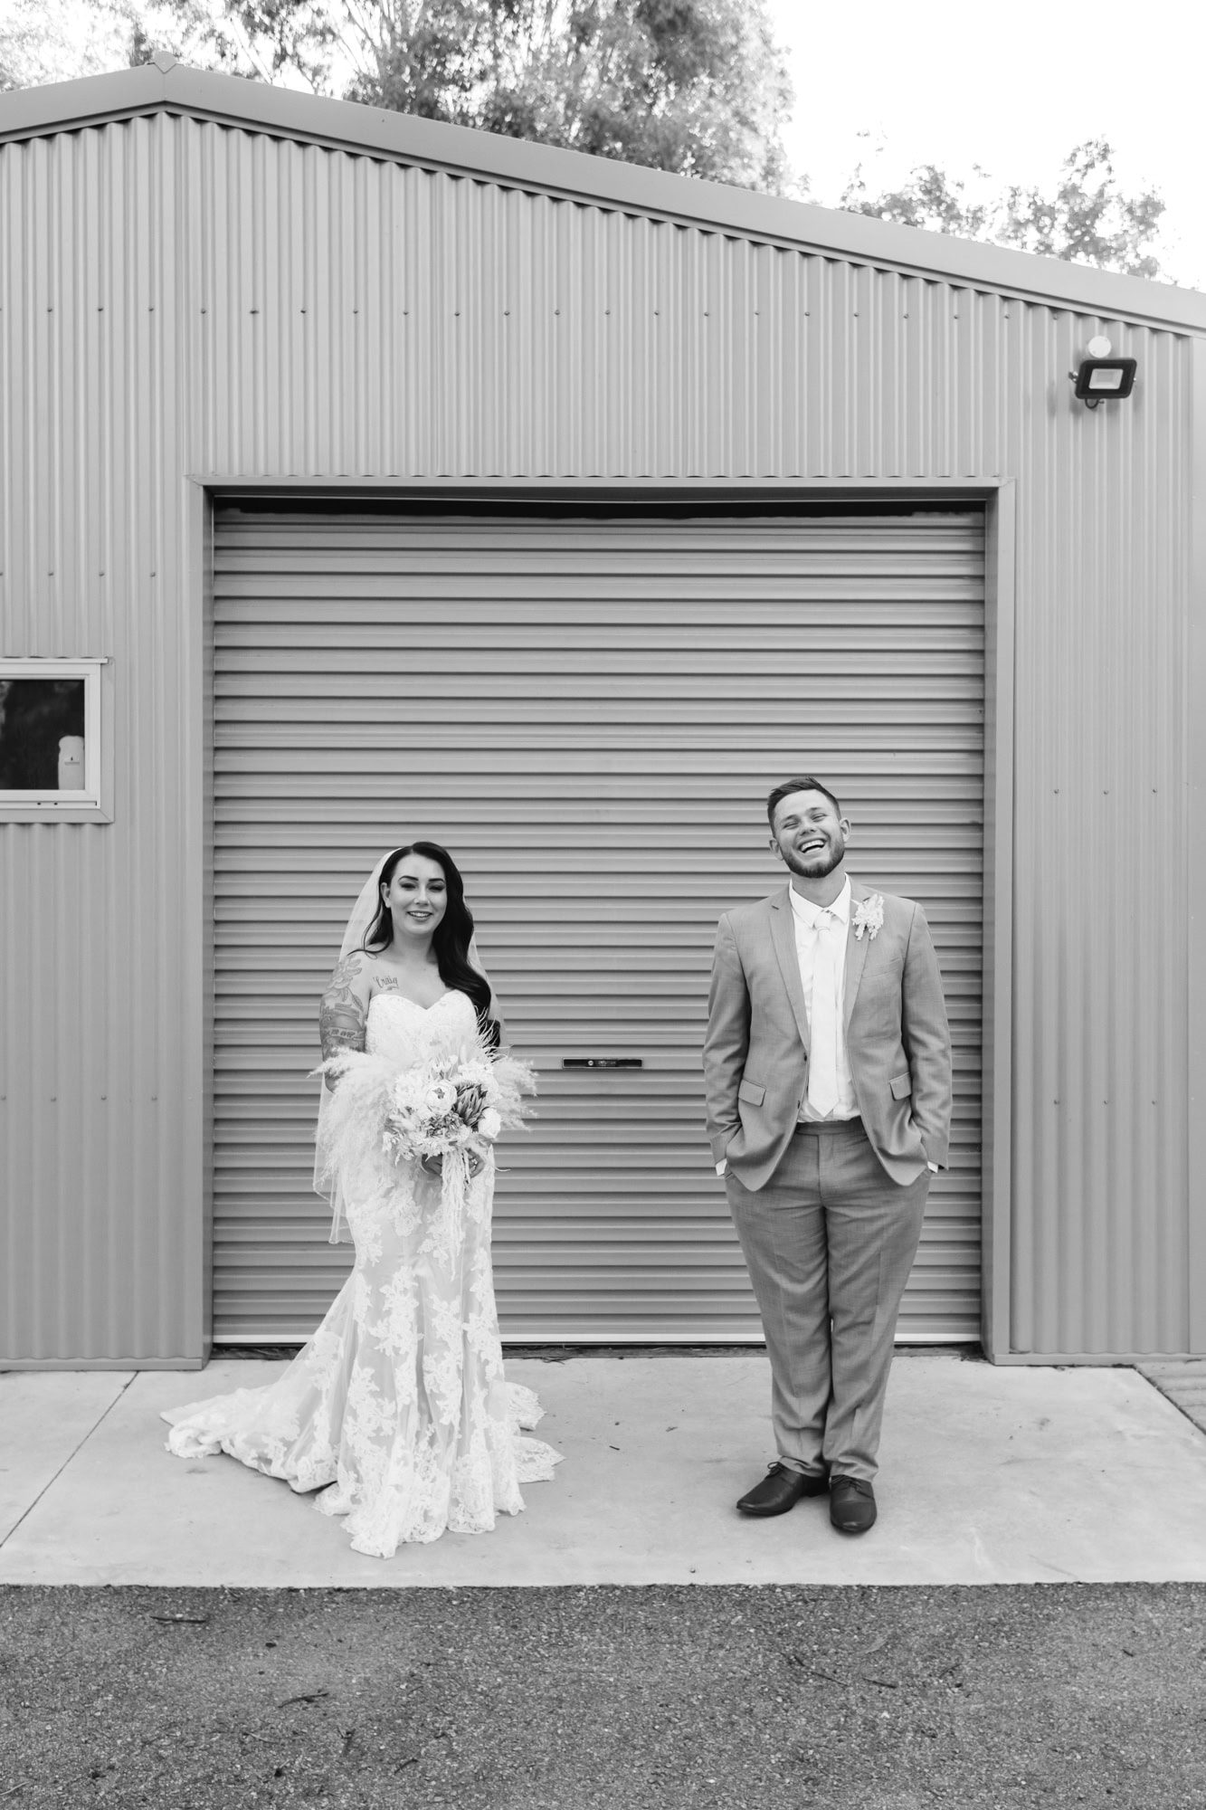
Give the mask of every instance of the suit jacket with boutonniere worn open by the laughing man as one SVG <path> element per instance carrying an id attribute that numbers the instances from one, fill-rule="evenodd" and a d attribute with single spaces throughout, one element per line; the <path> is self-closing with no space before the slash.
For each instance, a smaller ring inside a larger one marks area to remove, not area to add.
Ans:
<path id="1" fill-rule="evenodd" d="M 851 876 L 853 901 L 871 896 Z M 893 1182 L 947 1164 L 951 1032 L 925 912 L 882 894 L 884 923 L 846 943 L 846 1050 L 871 1148 Z M 712 963 L 708 1137 L 746 1187 L 764 1187 L 808 1093 L 808 1012 L 788 887 L 721 918 Z"/>

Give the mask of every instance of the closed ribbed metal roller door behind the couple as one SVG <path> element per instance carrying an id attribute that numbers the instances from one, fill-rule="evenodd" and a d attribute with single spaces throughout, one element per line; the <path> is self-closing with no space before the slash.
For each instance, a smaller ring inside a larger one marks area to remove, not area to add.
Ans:
<path id="1" fill-rule="evenodd" d="M 699 1046 L 717 914 L 780 883 L 762 798 L 799 769 L 853 816 L 851 869 L 934 929 L 954 1155 L 898 1336 L 976 1338 L 978 512 L 221 509 L 214 632 L 217 1339 L 302 1338 L 346 1274 L 310 1193 L 317 999 L 366 871 L 413 836 L 460 862 L 543 1077 L 502 1153 L 503 1334 L 757 1339 Z"/>

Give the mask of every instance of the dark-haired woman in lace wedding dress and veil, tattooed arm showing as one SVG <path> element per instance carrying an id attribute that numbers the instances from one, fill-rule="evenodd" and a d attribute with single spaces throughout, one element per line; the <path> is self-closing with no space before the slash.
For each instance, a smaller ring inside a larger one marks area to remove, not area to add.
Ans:
<path id="1" fill-rule="evenodd" d="M 498 1050 L 502 1023 L 474 967 L 473 916 L 445 849 L 413 842 L 377 863 L 348 921 L 322 996 L 324 1091 L 315 1187 L 346 1218 L 355 1267 L 310 1343 L 263 1388 L 168 1410 L 177 1457 L 228 1452 L 322 1490 L 359 1553 L 389 1558 L 445 1528 L 483 1533 L 518 1515 L 522 1482 L 552 1477 L 560 1453 L 534 1426 L 532 1390 L 503 1381 L 491 1274 L 494 1158 L 391 1158 L 380 1124 L 353 1108 L 349 1052 L 388 1073 Z M 364 1064 L 366 1068 L 369 1064 Z"/>

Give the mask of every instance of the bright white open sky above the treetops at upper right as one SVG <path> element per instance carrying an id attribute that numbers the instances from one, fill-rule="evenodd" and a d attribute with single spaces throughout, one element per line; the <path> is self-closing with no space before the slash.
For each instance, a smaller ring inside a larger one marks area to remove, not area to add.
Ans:
<path id="1" fill-rule="evenodd" d="M 991 188 L 1054 190 L 1067 152 L 1106 138 L 1126 192 L 1168 212 L 1168 281 L 1206 290 L 1206 7 L 1201 0 L 766 0 L 795 83 L 784 143 L 809 199 L 837 206 L 858 163 L 867 188 L 936 163 Z M 866 136 L 860 136 L 866 134 Z"/>

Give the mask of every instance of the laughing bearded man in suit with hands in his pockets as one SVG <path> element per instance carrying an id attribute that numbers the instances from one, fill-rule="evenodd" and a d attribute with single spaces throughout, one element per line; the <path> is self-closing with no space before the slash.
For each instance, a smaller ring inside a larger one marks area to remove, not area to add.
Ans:
<path id="1" fill-rule="evenodd" d="M 737 1508 L 782 1515 L 828 1486 L 833 1526 L 866 1533 L 896 1314 L 947 1162 L 951 1035 L 925 914 L 849 878 L 833 793 L 786 780 L 766 814 L 791 883 L 721 918 L 703 1057 L 779 1448 Z"/>

